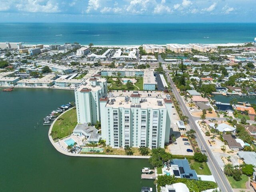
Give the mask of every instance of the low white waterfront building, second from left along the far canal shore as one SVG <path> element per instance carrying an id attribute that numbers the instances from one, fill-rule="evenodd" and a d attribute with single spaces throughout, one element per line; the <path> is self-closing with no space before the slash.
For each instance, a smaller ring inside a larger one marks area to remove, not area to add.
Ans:
<path id="1" fill-rule="evenodd" d="M 18 87 L 50 87 L 54 84 L 56 75 L 48 74 L 42 78 L 22 79 L 17 82 Z"/>

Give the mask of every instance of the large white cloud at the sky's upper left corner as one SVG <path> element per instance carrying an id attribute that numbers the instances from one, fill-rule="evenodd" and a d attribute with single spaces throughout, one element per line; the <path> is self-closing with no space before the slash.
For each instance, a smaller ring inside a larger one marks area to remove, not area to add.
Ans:
<path id="1" fill-rule="evenodd" d="M 19 11 L 31 12 L 31 13 L 57 13 L 60 12 L 57 3 L 53 3 L 51 0 L 27 0 L 22 4 L 16 4 L 16 8 Z"/>

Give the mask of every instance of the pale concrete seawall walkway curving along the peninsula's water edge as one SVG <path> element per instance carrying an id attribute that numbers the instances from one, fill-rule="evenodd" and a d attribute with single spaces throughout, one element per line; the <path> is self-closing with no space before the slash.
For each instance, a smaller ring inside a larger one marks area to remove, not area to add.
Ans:
<path id="1" fill-rule="evenodd" d="M 71 110 L 72 108 L 70 108 L 69 110 Z M 64 113 L 66 113 L 67 111 L 69 110 L 66 110 Z M 60 114 L 60 116 L 62 116 L 64 113 Z M 58 116 L 58 118 L 60 118 L 60 116 Z M 74 154 L 74 153 L 70 153 L 70 152 L 66 152 L 64 150 L 62 150 L 61 148 L 58 147 L 58 145 L 54 142 L 54 140 L 52 139 L 52 136 L 50 136 L 50 133 L 52 132 L 52 127 L 54 125 L 54 123 L 58 120 L 58 118 L 56 118 L 51 126 L 50 126 L 50 129 L 49 129 L 49 132 L 48 132 L 48 138 L 50 140 L 50 142 L 52 143 L 52 145 L 54 146 L 54 148 L 64 154 L 64 155 L 67 155 L 67 156 L 73 156 L 73 157 L 105 157 L 105 158 L 133 158 L 133 159 L 149 159 L 150 156 L 128 156 L 128 155 L 100 155 L 100 154 Z"/>

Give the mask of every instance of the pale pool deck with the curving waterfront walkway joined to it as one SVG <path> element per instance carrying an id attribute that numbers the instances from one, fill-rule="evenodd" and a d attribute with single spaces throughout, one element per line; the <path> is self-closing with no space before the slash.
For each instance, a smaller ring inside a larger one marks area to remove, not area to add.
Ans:
<path id="1" fill-rule="evenodd" d="M 71 108 L 72 109 L 72 108 Z M 71 110 L 69 109 L 69 110 Z M 69 110 L 66 110 L 65 112 L 69 111 Z M 64 112 L 64 113 L 65 113 Z M 60 116 L 62 116 L 64 113 L 60 114 Z M 60 117 L 59 116 L 59 117 Z M 52 132 L 52 127 L 54 125 L 54 123 L 56 122 L 58 118 L 56 118 L 51 126 L 50 126 L 50 129 L 49 129 L 49 132 L 48 132 L 48 138 L 50 140 L 50 142 L 52 143 L 52 146 L 54 146 L 54 148 L 64 154 L 64 155 L 67 155 L 67 156 L 73 156 L 73 157 L 101 157 L 101 158 L 134 158 L 134 159 L 149 159 L 150 156 L 128 156 L 128 155 L 100 155 L 100 154 L 75 154 L 75 153 L 70 153 L 68 150 L 67 150 L 67 144 L 64 142 L 64 140 L 67 140 L 69 138 L 72 138 L 74 139 L 78 145 L 80 145 L 80 143 L 82 142 L 82 137 L 78 137 L 76 138 L 76 136 L 68 136 L 66 138 L 63 138 L 61 140 L 58 140 L 58 142 L 54 142 L 54 140 L 52 139 L 52 136 L 50 136 L 50 133 Z"/>

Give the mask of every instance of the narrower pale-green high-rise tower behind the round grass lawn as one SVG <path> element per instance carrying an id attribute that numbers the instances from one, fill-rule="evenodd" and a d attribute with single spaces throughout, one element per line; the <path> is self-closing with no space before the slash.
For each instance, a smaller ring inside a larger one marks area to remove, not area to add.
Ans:
<path id="1" fill-rule="evenodd" d="M 96 124 L 100 121 L 100 98 L 106 97 L 107 81 L 104 78 L 88 78 L 76 88 L 76 112 L 78 124 Z"/>

